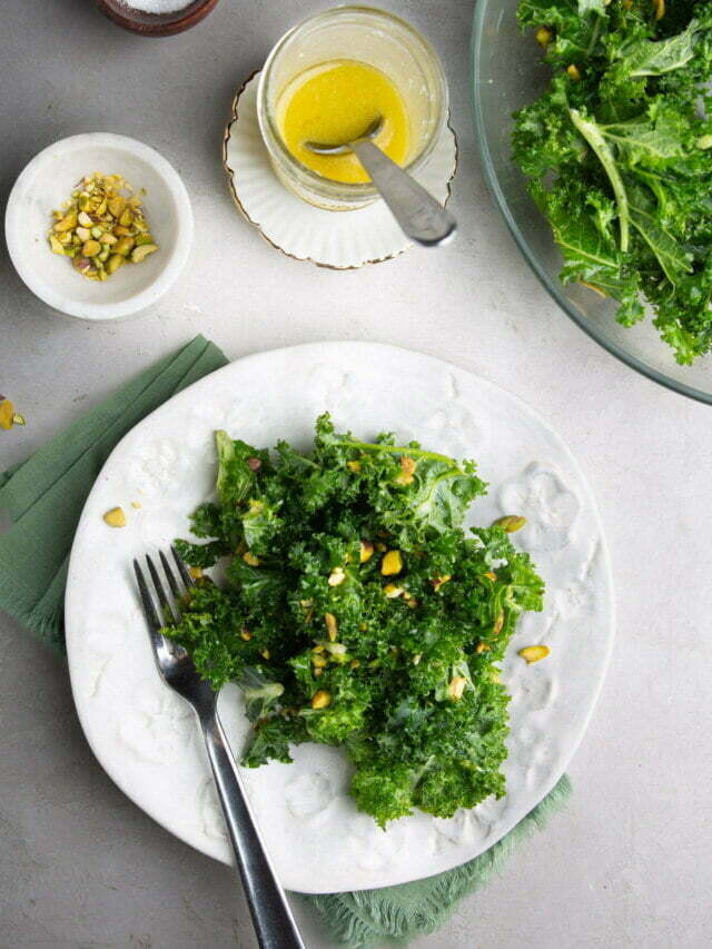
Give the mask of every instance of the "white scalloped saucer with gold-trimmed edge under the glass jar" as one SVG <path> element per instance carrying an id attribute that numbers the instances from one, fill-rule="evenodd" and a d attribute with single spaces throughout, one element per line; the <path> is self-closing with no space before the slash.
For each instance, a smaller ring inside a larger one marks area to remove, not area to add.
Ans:
<path id="1" fill-rule="evenodd" d="M 293 195 L 277 178 L 257 121 L 259 72 L 238 90 L 225 130 L 222 166 L 235 204 L 277 250 L 319 267 L 350 270 L 379 264 L 413 246 L 383 201 L 353 211 L 327 211 Z M 415 176 L 445 204 L 457 167 L 455 132 L 445 127 Z"/>

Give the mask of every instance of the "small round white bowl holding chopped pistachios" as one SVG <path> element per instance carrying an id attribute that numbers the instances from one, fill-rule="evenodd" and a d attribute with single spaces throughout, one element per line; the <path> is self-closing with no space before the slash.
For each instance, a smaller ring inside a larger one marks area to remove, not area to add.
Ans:
<path id="1" fill-rule="evenodd" d="M 146 217 L 159 247 L 103 283 L 81 277 L 47 240 L 52 210 L 93 171 L 122 175 L 137 191 L 146 189 Z M 18 274 L 48 306 L 80 319 L 119 319 L 156 303 L 176 280 L 190 253 L 192 209 L 177 171 L 152 148 L 122 135 L 76 135 L 40 151 L 14 182 L 6 238 Z"/>

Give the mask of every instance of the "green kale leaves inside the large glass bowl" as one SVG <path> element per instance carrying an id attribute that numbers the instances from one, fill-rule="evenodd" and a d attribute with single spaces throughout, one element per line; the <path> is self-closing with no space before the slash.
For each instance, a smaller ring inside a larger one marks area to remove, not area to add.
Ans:
<path id="1" fill-rule="evenodd" d="M 515 115 L 514 159 L 561 278 L 643 319 L 680 364 L 712 348 L 712 3 L 521 0 L 553 77 Z"/>

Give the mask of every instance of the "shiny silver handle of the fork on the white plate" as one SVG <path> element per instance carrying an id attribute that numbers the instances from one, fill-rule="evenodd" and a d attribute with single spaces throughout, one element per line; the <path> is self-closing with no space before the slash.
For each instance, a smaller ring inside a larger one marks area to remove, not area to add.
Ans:
<path id="1" fill-rule="evenodd" d="M 201 724 L 260 949 L 304 949 L 285 892 L 265 852 L 217 712 Z"/>

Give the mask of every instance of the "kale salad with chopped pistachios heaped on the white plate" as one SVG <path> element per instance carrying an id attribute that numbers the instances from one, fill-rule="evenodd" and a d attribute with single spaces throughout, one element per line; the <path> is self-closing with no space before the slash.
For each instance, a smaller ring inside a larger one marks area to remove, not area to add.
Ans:
<path id="1" fill-rule="evenodd" d="M 254 723 L 243 763 L 322 742 L 354 767 L 378 824 L 502 797 L 508 731 L 498 663 L 543 582 L 506 516 L 463 528 L 485 494 L 473 462 L 316 423 L 308 454 L 216 433 L 217 502 L 178 541 L 195 587 L 165 632 Z M 220 562 L 222 577 L 204 571 Z"/>

